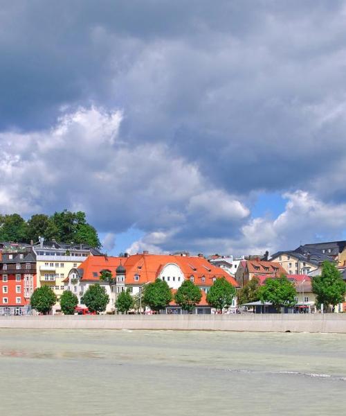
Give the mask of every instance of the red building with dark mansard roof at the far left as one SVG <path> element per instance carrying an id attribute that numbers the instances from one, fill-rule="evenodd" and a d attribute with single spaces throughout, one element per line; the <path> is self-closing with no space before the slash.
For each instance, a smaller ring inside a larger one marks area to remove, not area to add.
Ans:
<path id="1" fill-rule="evenodd" d="M 26 315 L 37 286 L 36 256 L 30 246 L 11 244 L 0 254 L 0 314 Z"/>

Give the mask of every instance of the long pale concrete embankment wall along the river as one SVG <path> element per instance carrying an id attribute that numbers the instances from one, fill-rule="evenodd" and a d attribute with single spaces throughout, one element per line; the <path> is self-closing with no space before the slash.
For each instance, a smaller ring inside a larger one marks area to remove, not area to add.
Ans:
<path id="1" fill-rule="evenodd" d="M 346 333 L 346 314 L 2 316 L 0 328 Z"/>

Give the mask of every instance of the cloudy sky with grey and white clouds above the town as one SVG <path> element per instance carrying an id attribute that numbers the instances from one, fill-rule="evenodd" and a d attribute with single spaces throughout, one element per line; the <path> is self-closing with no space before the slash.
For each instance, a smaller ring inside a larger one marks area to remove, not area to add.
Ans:
<path id="1" fill-rule="evenodd" d="M 346 238 L 346 1 L 0 0 L 0 212 L 104 249 Z"/>

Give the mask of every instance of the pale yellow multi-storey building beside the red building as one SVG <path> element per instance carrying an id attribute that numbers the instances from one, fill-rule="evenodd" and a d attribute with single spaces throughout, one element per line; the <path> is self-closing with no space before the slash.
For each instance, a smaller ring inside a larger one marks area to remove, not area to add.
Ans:
<path id="1" fill-rule="evenodd" d="M 64 292 L 64 279 L 73 268 L 89 256 L 100 256 L 95 248 L 85 244 L 66 244 L 40 239 L 39 244 L 33 245 L 33 252 L 37 261 L 37 287 L 50 286 L 57 296 L 57 303 L 53 306 L 53 313 L 61 311 L 59 300 Z"/>

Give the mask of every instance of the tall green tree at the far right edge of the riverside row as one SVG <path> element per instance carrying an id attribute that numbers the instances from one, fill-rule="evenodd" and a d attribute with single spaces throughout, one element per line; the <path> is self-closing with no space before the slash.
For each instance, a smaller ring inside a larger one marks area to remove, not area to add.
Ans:
<path id="1" fill-rule="evenodd" d="M 316 295 L 317 304 L 335 306 L 344 302 L 346 285 L 338 269 L 329 261 L 324 261 L 320 276 L 313 277 L 312 291 Z"/>

